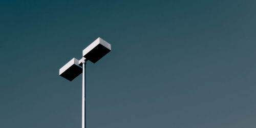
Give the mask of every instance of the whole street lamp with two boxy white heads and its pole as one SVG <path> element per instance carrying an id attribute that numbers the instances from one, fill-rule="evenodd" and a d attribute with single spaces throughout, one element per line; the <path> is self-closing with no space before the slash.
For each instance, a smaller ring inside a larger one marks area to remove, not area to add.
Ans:
<path id="1" fill-rule="evenodd" d="M 86 128 L 86 61 L 95 63 L 110 51 L 111 45 L 99 37 L 82 51 L 80 60 L 73 58 L 59 69 L 59 75 L 70 81 L 82 73 L 82 128 Z"/>

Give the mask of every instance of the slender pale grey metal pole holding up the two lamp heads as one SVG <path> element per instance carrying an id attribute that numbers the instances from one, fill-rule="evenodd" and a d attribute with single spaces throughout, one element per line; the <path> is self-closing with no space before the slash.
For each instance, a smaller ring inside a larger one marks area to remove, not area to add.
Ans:
<path id="1" fill-rule="evenodd" d="M 86 128 L 86 60 L 82 61 L 82 128 Z"/>

